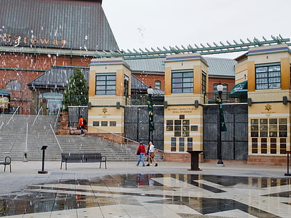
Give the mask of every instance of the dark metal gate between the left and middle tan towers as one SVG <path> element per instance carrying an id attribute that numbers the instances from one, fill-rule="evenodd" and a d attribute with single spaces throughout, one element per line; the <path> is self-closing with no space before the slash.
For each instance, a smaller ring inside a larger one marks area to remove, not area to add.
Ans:
<path id="1" fill-rule="evenodd" d="M 157 149 L 164 150 L 164 107 L 154 106 L 152 111 L 155 122 L 152 140 Z M 147 144 L 150 138 L 148 119 L 148 106 L 125 107 L 125 137 Z"/>

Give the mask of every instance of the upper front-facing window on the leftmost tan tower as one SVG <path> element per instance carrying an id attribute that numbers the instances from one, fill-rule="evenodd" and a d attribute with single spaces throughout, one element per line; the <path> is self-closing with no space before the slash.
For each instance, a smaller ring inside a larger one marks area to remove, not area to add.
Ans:
<path id="1" fill-rule="evenodd" d="M 96 75 L 96 96 L 115 95 L 116 74 Z"/>

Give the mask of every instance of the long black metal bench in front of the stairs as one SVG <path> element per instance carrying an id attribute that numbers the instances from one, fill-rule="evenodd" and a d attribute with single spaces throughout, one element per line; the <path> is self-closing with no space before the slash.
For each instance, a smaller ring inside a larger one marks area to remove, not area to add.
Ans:
<path id="1" fill-rule="evenodd" d="M 67 170 L 67 163 L 99 163 L 101 168 L 101 163 L 105 163 L 106 167 L 106 156 L 102 156 L 100 153 L 62 153 L 62 161 L 61 167 L 62 170 L 62 163 L 66 163 L 66 170 Z"/>

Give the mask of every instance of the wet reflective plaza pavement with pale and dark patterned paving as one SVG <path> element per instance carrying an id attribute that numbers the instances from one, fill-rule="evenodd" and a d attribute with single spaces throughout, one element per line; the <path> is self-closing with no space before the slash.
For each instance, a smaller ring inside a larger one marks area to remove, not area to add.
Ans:
<path id="1" fill-rule="evenodd" d="M 286 167 L 161 162 L 12 162 L 0 171 L 0 217 L 291 217 Z"/>

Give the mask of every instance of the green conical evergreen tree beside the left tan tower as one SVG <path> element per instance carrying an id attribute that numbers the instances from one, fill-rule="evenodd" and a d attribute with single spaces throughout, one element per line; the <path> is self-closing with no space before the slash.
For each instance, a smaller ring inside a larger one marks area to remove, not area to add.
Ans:
<path id="1" fill-rule="evenodd" d="M 80 67 L 73 69 L 73 74 L 69 79 L 69 83 L 64 89 L 64 111 L 68 111 L 68 106 L 85 106 L 88 104 L 88 87 L 87 81 Z"/>

